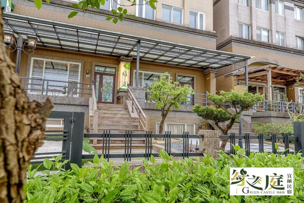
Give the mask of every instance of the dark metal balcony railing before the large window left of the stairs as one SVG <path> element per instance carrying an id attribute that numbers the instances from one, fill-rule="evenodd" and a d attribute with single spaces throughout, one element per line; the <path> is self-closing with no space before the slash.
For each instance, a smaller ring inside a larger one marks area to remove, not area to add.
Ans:
<path id="1" fill-rule="evenodd" d="M 20 77 L 28 94 L 80 97 L 92 95 L 92 84 L 76 81 L 47 80 L 35 77 Z"/>

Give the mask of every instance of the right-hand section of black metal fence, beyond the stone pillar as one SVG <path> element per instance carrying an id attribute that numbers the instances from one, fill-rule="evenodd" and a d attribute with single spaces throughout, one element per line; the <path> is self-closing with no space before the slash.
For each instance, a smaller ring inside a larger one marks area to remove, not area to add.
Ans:
<path id="1" fill-rule="evenodd" d="M 294 122 L 294 133 L 282 133 L 281 135 L 277 135 L 272 133 L 271 135 L 265 136 L 262 133 L 259 133 L 257 136 L 251 136 L 249 133 L 244 133 L 244 135 L 236 135 L 236 133 L 230 133 L 230 135 L 221 135 L 220 139 L 229 139 L 230 142 L 230 152 L 225 152 L 226 154 L 235 154 L 233 145 L 236 145 L 236 139 L 244 139 L 244 148 L 246 149 L 246 155 L 249 156 L 251 153 L 250 149 L 250 140 L 257 139 L 258 140 L 258 152 L 269 152 L 264 149 L 264 141 L 268 140 L 271 142 L 271 150 L 270 152 L 284 153 L 287 155 L 288 153 L 298 153 L 301 151 L 302 156 L 304 157 L 304 122 Z M 276 144 L 278 140 L 283 140 L 284 150 L 280 151 L 276 148 Z M 290 151 L 290 142 L 293 142 L 295 151 Z"/>

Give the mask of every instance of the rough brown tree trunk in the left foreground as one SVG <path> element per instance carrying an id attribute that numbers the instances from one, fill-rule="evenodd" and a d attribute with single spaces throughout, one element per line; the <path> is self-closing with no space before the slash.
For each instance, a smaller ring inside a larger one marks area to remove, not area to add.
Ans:
<path id="1" fill-rule="evenodd" d="M 0 202 L 19 203 L 24 198 L 26 168 L 43 143 L 53 103 L 49 98 L 44 104 L 29 102 L 5 50 L 0 10 Z"/>

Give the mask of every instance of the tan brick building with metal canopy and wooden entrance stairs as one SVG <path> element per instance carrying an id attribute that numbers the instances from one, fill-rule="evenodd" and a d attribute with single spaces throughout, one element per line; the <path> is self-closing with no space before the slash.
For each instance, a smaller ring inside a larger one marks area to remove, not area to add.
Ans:
<path id="1" fill-rule="evenodd" d="M 192 105 L 207 105 L 205 91 L 216 92 L 217 68 L 251 58 L 216 50 L 211 0 L 159 0 L 156 10 L 139 0 L 126 7 L 137 17 L 117 24 L 106 20 L 117 1 L 68 19 L 71 2 L 43 2 L 38 11 L 33 1 L 16 0 L 3 21 L 15 36 L 33 33 L 38 38 L 34 54 L 21 53 L 19 75 L 29 98 L 43 102 L 48 95 L 56 111 L 85 112 L 91 132 L 157 132 L 161 113 L 146 102 L 145 88 L 168 74 L 191 85 L 195 95 L 168 114 L 164 131 L 195 133 L 200 118 Z M 8 54 L 16 62 L 17 53 Z"/>

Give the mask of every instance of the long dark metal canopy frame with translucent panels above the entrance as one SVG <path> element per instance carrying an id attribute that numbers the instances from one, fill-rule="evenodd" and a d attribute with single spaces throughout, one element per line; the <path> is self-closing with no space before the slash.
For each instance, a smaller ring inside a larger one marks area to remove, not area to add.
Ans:
<path id="1" fill-rule="evenodd" d="M 37 46 L 94 53 L 130 56 L 141 61 L 192 68 L 221 68 L 244 64 L 250 56 L 172 43 L 147 37 L 111 32 L 63 22 L 5 13 L 4 29 L 17 35 L 34 33 Z M 138 44 L 140 43 L 140 46 Z M 137 49 L 140 47 L 139 56 Z M 243 65 L 244 67 L 244 65 Z"/>

